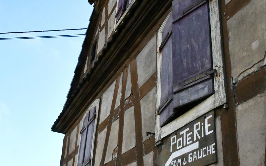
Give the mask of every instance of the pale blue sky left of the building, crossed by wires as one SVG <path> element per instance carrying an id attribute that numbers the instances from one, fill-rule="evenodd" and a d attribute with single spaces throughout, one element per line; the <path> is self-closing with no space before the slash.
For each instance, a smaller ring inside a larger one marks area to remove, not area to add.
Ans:
<path id="1" fill-rule="evenodd" d="M 0 32 L 87 28 L 91 12 L 87 0 L 0 0 Z M 59 165 L 64 135 L 51 126 L 65 103 L 83 39 L 0 40 L 0 166 Z"/>

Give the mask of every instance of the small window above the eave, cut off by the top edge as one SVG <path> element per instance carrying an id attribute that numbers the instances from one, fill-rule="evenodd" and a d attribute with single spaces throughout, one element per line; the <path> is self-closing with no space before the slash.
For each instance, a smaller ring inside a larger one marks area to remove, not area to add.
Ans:
<path id="1" fill-rule="evenodd" d="M 135 0 L 117 0 L 115 27 L 121 22 L 124 15 L 127 13 L 128 9 L 132 6 L 134 2 Z"/>

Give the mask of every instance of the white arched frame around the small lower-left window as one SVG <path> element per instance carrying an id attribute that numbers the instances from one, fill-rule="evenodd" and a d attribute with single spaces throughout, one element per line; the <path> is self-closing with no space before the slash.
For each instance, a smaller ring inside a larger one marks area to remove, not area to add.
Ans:
<path id="1" fill-rule="evenodd" d="M 86 115 L 88 115 L 89 111 L 94 108 L 96 106 L 96 110 L 95 110 L 95 121 L 94 121 L 94 131 L 93 131 L 93 136 L 92 136 L 92 145 L 91 145 L 91 162 L 89 165 L 92 165 L 92 161 L 93 161 L 93 151 L 94 151 L 94 142 L 95 142 L 95 135 L 96 135 L 96 125 L 97 125 L 97 122 L 98 122 L 98 112 L 99 112 L 99 106 L 100 106 L 100 99 L 96 99 L 94 100 L 91 105 L 88 107 L 88 109 L 86 110 L 86 113 L 84 114 L 82 120 L 80 121 L 81 123 L 81 129 L 82 129 L 82 126 L 83 126 L 83 121 L 86 117 Z M 80 129 L 80 131 L 81 131 Z M 80 134 L 80 131 L 79 131 L 79 136 L 80 136 L 80 143 L 81 143 L 81 134 Z M 78 150 L 78 153 L 77 153 L 77 161 L 78 161 L 78 158 L 79 158 L 79 153 L 80 153 L 80 144 L 79 144 L 79 150 Z M 76 160 L 76 159 L 75 159 Z"/>

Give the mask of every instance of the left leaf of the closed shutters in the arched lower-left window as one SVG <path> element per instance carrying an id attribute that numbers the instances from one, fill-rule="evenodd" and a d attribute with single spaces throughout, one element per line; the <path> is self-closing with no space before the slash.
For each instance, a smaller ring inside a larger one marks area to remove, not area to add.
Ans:
<path id="1" fill-rule="evenodd" d="M 83 120 L 82 129 L 80 131 L 81 138 L 80 138 L 80 151 L 79 151 L 79 158 L 78 158 L 78 166 L 82 166 L 83 159 L 84 159 L 84 150 L 85 150 L 85 143 L 87 137 L 87 123 L 88 123 L 89 115 L 87 115 Z"/>

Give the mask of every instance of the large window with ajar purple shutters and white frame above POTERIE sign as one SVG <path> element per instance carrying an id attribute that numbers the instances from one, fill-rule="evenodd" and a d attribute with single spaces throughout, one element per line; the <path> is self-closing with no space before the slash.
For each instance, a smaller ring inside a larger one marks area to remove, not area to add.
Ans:
<path id="1" fill-rule="evenodd" d="M 197 116 L 226 102 L 218 9 L 218 0 L 172 1 L 158 31 L 156 141 L 184 113 Z M 193 109 L 200 104 L 203 110 Z"/>

